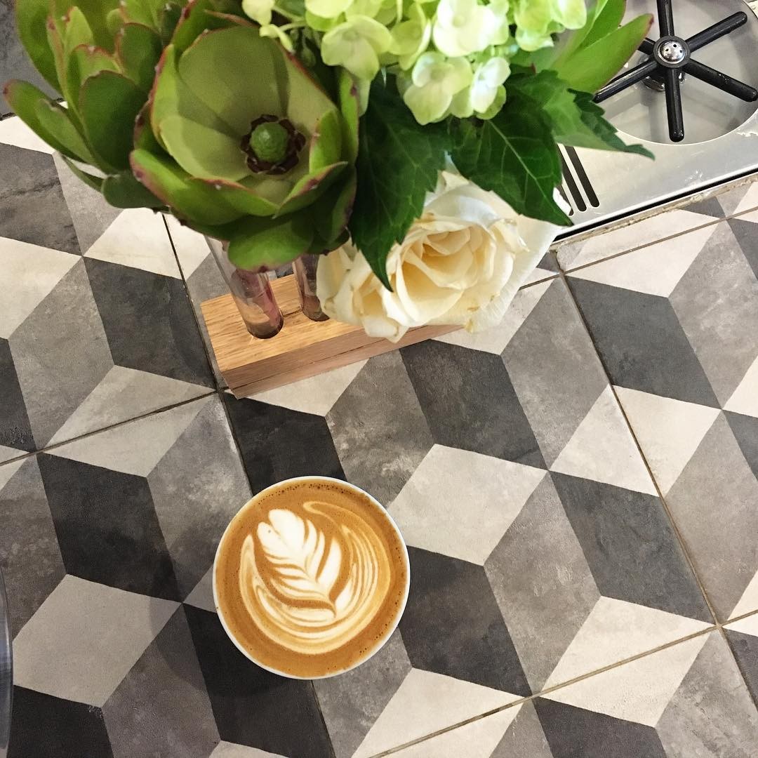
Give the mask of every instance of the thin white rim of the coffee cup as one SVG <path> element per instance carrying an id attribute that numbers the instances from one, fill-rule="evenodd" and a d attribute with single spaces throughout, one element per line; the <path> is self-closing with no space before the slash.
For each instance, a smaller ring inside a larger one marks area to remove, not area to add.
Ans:
<path id="1" fill-rule="evenodd" d="M 246 650 L 245 647 L 236 639 L 236 637 L 231 633 L 229 627 L 227 626 L 227 621 L 224 619 L 224 612 L 221 611 L 221 606 L 218 603 L 218 590 L 216 587 L 216 564 L 218 563 L 218 556 L 221 553 L 221 546 L 224 544 L 224 540 L 227 537 L 227 534 L 229 533 L 229 530 L 231 528 L 231 525 L 234 522 L 234 519 L 240 515 L 240 513 L 243 511 L 243 509 L 246 509 L 250 503 L 253 502 L 253 500 L 257 500 L 259 497 L 267 493 L 269 490 L 274 489 L 274 487 L 280 487 L 283 484 L 293 484 L 294 482 L 299 481 L 326 481 L 326 482 L 334 482 L 334 484 L 340 484 L 343 487 L 347 487 L 349 490 L 353 490 L 359 494 L 365 495 L 368 497 L 368 500 L 371 501 L 371 503 L 374 504 L 378 509 L 381 510 L 382 514 L 387 518 L 387 521 L 390 523 L 392 528 L 395 531 L 395 534 L 400 540 L 400 544 L 402 544 L 402 556 L 405 559 L 406 563 L 406 587 L 403 590 L 402 593 L 402 601 L 399 606 L 399 612 L 396 615 L 395 622 L 387 627 L 387 631 L 382 635 L 381 639 L 377 641 L 377 644 L 374 645 L 374 648 L 371 650 L 370 653 L 363 656 L 361 659 L 356 661 L 352 664 L 352 666 L 348 666 L 346 669 L 342 669 L 341 671 L 333 672 L 330 674 L 322 674 L 320 676 L 299 676 L 297 674 L 290 674 L 288 672 L 280 671 L 280 669 L 274 669 L 271 666 L 266 666 L 264 663 L 260 662 L 258 659 L 255 659 L 255 656 L 252 656 L 252 654 L 249 652 L 249 650 Z M 255 663 L 255 666 L 260 666 L 260 668 L 265 669 L 265 671 L 271 672 L 272 674 L 276 674 L 277 676 L 282 676 L 287 679 L 296 679 L 299 681 L 311 681 L 315 679 L 330 679 L 334 678 L 335 676 L 341 676 L 343 674 L 346 674 L 349 671 L 352 671 L 353 669 L 357 669 L 359 666 L 362 666 L 366 661 L 373 658 L 389 641 L 390 637 L 395 633 L 396 629 L 398 628 L 400 624 L 400 619 L 402 619 L 402 615 L 406 612 L 406 605 L 408 603 L 408 597 L 411 589 L 411 561 L 408 555 L 408 546 L 406 545 L 406 540 L 403 539 L 402 533 L 400 532 L 400 529 L 395 522 L 395 519 L 390 515 L 390 512 L 370 493 L 366 492 L 366 490 L 362 489 L 362 487 L 359 487 L 357 484 L 352 484 L 352 482 L 344 481 L 343 479 L 337 479 L 335 477 L 330 476 L 319 476 L 319 475 L 312 475 L 312 476 L 296 476 L 296 477 L 290 477 L 288 479 L 282 479 L 281 481 L 277 481 L 274 484 L 269 484 L 268 487 L 264 487 L 259 492 L 255 493 L 243 506 L 240 507 L 239 510 L 232 516 L 230 519 L 230 522 L 227 524 L 227 527 L 224 529 L 224 533 L 221 534 L 221 539 L 218 540 L 218 546 L 216 547 L 216 553 L 213 559 L 213 567 L 211 568 L 212 573 L 212 587 L 213 587 L 213 605 L 216 609 L 216 615 L 218 615 L 218 619 L 221 622 L 221 626 L 224 628 L 224 631 L 227 634 L 227 637 L 233 642 L 234 647 L 236 647 L 237 650 L 240 651 L 240 653 L 243 654 L 249 661 L 252 661 Z"/>

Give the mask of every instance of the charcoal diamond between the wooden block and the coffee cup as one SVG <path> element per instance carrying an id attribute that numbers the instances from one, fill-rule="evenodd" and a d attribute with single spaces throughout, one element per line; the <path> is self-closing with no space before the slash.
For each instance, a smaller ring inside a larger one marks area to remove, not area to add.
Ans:
<path id="1" fill-rule="evenodd" d="M 345 478 L 323 416 L 228 393 L 224 401 L 253 493 L 296 476 Z"/>

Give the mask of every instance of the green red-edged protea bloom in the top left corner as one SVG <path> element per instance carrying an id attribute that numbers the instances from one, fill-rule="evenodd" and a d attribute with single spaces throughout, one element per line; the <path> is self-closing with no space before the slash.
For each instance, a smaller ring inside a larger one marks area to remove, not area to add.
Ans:
<path id="1" fill-rule="evenodd" d="M 148 99 L 164 40 L 174 32 L 184 2 L 17 2 L 20 39 L 65 105 L 18 80 L 8 82 L 5 97 L 20 118 L 113 205 L 162 205 L 134 179 L 129 154 L 134 121 Z M 80 164 L 98 171 L 90 173 Z"/>

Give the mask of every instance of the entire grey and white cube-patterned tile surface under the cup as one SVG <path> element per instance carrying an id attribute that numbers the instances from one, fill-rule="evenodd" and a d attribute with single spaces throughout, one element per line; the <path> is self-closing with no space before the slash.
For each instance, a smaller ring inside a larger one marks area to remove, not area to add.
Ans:
<path id="1" fill-rule="evenodd" d="M 236 400 L 202 240 L 0 121 L 11 758 L 753 758 L 754 208 L 568 243 L 489 334 Z M 386 503 L 412 562 L 387 647 L 315 684 L 243 659 L 209 587 L 236 508 L 308 473 Z"/>

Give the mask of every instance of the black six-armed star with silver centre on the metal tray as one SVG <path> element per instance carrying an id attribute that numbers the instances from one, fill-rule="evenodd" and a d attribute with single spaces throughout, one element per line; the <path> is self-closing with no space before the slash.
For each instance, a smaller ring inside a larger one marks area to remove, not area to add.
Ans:
<path id="1" fill-rule="evenodd" d="M 695 79 L 721 89 L 723 92 L 738 97 L 746 102 L 758 100 L 758 89 L 734 79 L 715 68 L 693 60 L 692 53 L 710 42 L 747 23 L 747 14 L 743 11 L 732 14 L 702 32 L 682 39 L 674 32 L 672 0 L 657 0 L 659 39 L 644 39 L 640 45 L 641 52 L 648 56 L 642 61 L 611 80 L 595 95 L 595 102 L 603 102 L 637 82 L 653 79 L 662 82 L 666 92 L 666 114 L 669 118 L 669 137 L 672 142 L 684 139 L 684 114 L 681 109 L 681 74 L 689 74 Z"/>

